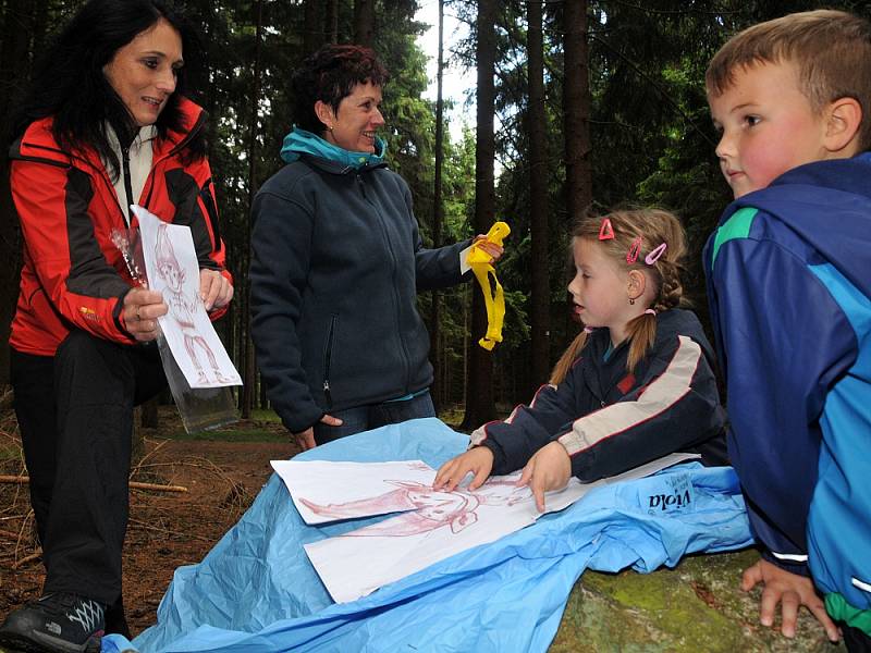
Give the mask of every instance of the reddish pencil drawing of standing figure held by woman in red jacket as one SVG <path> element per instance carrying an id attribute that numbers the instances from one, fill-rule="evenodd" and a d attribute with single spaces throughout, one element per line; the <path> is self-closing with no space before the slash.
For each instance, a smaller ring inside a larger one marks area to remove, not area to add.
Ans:
<path id="1" fill-rule="evenodd" d="M 167 284 L 163 299 L 169 306 L 170 316 L 174 319 L 175 323 L 179 324 L 179 329 L 184 336 L 184 347 L 191 358 L 191 362 L 194 364 L 198 383 L 208 383 L 209 379 L 197 357 L 197 348 L 206 355 L 216 382 L 229 383 L 230 380 L 220 372 L 218 361 L 214 358 L 211 347 L 209 347 L 206 338 L 203 337 L 197 330 L 196 311 L 200 299 L 197 296 L 196 286 L 193 288 L 185 288 L 187 275 L 179 263 L 179 259 L 175 258 L 175 252 L 172 249 L 172 242 L 169 238 L 169 230 L 167 227 L 167 224 L 160 224 L 158 226 L 157 244 L 155 245 L 158 276 Z"/>

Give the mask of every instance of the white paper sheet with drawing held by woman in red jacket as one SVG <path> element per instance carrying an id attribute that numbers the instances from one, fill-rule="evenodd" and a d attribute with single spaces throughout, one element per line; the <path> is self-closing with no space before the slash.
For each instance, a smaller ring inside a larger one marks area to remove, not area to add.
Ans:
<path id="1" fill-rule="evenodd" d="M 175 362 L 191 387 L 242 385 L 199 297 L 199 263 L 191 229 L 132 207 L 139 221 L 148 286 L 163 294 L 169 312 L 158 318 Z"/>

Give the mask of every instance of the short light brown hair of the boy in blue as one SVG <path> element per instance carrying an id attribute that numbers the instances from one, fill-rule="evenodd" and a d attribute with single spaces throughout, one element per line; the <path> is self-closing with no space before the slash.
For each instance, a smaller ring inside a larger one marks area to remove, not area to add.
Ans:
<path id="1" fill-rule="evenodd" d="M 748 27 L 714 54 L 704 76 L 708 94 L 728 90 L 738 69 L 783 62 L 798 67 L 798 88 L 815 113 L 839 98 L 857 100 L 862 108 L 859 148 L 871 148 L 871 23 L 820 9 Z"/>

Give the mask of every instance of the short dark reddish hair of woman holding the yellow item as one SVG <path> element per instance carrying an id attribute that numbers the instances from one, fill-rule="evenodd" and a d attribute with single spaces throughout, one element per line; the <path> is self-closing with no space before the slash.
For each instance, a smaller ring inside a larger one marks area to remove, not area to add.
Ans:
<path id="1" fill-rule="evenodd" d="M 390 73 L 364 46 L 329 44 L 307 57 L 291 82 L 293 87 L 293 121 L 296 126 L 322 134 L 323 123 L 315 113 L 320 100 L 339 111 L 339 103 L 349 96 L 357 84 L 371 83 L 382 87 Z"/>

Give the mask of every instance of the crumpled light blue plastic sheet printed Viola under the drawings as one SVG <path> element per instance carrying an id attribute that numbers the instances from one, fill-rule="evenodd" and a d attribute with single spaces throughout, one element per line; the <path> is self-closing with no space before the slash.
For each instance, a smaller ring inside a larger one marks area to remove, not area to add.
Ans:
<path id="1" fill-rule="evenodd" d="M 437 419 L 377 429 L 296 457 L 440 466 L 468 438 Z M 266 461 L 265 461 L 266 464 Z M 729 467 L 680 465 L 593 490 L 535 526 L 334 604 L 303 550 L 384 517 L 306 526 L 277 475 L 198 565 L 180 567 L 158 624 L 103 652 L 545 651 L 587 569 L 641 572 L 751 543 Z"/>

